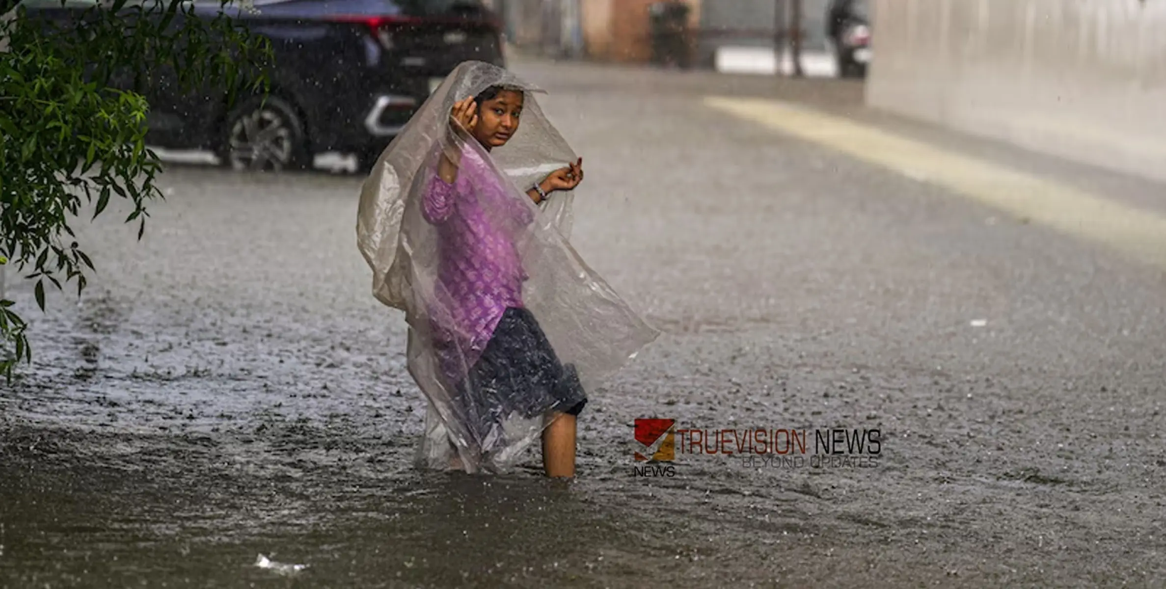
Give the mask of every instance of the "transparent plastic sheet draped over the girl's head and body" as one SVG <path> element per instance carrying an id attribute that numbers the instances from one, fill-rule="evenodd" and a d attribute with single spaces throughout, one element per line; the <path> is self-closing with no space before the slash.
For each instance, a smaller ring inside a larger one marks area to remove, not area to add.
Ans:
<path id="1" fill-rule="evenodd" d="M 451 126 L 449 113 L 457 100 L 494 85 L 521 90 L 525 98 L 518 132 L 487 152 Z M 463 63 L 389 145 L 361 190 L 357 243 L 373 272 L 373 295 L 406 313 L 408 370 L 429 401 L 417 455 L 427 468 L 450 468 L 456 453 L 470 472 L 504 471 L 539 437 L 546 415 L 571 405 L 570 395 L 549 394 L 546 387 L 522 393 L 531 390 L 528 380 L 539 383 L 554 371 L 521 352 L 510 356 L 529 369 L 513 372 L 518 377 L 511 380 L 521 383 L 470 378 L 480 376 L 482 366 L 478 372 L 475 367 L 484 364 L 483 341 L 475 339 L 475 330 L 463 329 L 468 323 L 458 317 L 465 316 L 459 311 L 464 304 L 448 278 L 451 266 L 491 255 L 462 255 L 468 243 L 451 227 L 456 219 L 449 215 L 476 211 L 491 227 L 491 251 L 519 261 L 517 269 L 463 267 L 462 275 L 517 272 L 521 307 L 583 391 L 593 391 L 659 335 L 569 245 L 574 195 L 555 192 L 541 206 L 526 195 L 535 182 L 577 159 L 542 113 L 536 93 L 542 91 L 498 66 Z M 435 198 L 445 195 L 435 187 L 442 154 L 458 166 L 456 190 L 445 201 Z M 452 213 L 449 198 L 457 201 Z M 498 329 L 505 324 L 507 334 L 531 331 L 511 318 L 507 315 Z"/>

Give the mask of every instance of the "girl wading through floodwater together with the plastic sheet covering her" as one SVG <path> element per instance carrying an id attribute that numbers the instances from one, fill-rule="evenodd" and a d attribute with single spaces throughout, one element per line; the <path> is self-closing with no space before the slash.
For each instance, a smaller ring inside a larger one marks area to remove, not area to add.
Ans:
<path id="1" fill-rule="evenodd" d="M 585 390 L 658 336 L 567 243 L 583 160 L 535 92 L 458 65 L 361 191 L 358 246 L 374 296 L 406 311 L 429 467 L 504 470 L 541 436 L 546 474 L 573 477 Z"/>

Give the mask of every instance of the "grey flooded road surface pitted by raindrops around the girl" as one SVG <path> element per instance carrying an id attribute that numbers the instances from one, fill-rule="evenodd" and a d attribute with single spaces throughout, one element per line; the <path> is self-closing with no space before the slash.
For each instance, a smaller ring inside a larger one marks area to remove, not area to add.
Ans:
<path id="1" fill-rule="evenodd" d="M 9 275 L 36 356 L 0 390 L 0 587 L 1166 577 L 1160 269 L 701 103 L 722 80 L 862 115 L 850 84 L 515 69 L 584 157 L 573 241 L 665 330 L 592 392 L 578 479 L 536 451 L 413 468 L 423 402 L 356 250 L 360 178 L 175 167 L 140 243 L 119 211 L 78 223 L 79 301 L 42 315 Z M 677 434 L 674 476 L 639 476 L 637 418 L 881 451 L 745 463 Z"/>

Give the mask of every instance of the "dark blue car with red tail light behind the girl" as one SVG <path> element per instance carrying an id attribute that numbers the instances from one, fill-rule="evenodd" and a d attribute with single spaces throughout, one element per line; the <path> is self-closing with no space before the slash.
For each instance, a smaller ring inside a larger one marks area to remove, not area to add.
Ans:
<path id="1" fill-rule="evenodd" d="M 23 5 L 59 21 L 92 1 Z M 194 6 L 206 17 L 219 9 Z M 356 154 L 367 169 L 458 63 L 505 65 L 500 23 L 478 1 L 259 0 L 255 9 L 233 16 L 271 41 L 269 96 L 229 108 L 224 92 L 185 93 L 157 72 L 146 92 L 152 145 L 211 150 L 236 169 L 310 168 L 323 152 Z"/>

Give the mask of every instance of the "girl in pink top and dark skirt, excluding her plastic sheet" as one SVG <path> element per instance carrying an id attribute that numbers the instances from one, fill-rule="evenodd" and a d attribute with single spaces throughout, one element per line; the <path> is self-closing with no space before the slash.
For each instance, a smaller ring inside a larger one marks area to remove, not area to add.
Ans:
<path id="1" fill-rule="evenodd" d="M 492 152 L 518 132 L 524 103 L 521 90 L 490 86 L 454 105 L 451 133 L 468 134 Z M 526 408 L 529 416 L 542 407 L 563 408 L 550 413 L 542 433 L 542 462 L 547 476 L 573 477 L 576 418 L 586 397 L 574 367 L 560 363 L 534 315 L 522 307 L 519 254 L 507 229 L 498 226 L 524 226 L 533 212 L 491 182 L 472 149 L 443 152 L 436 176 L 422 210 L 438 227 L 441 244 L 437 290 L 447 313 L 434 314 L 433 328 L 445 384 L 456 391 L 478 447 L 487 446 L 506 409 Z M 527 196 L 540 204 L 582 181 L 580 157 L 547 175 Z M 464 365 L 471 366 L 469 373 L 463 374 Z M 461 461 L 452 465 L 459 468 Z"/>

